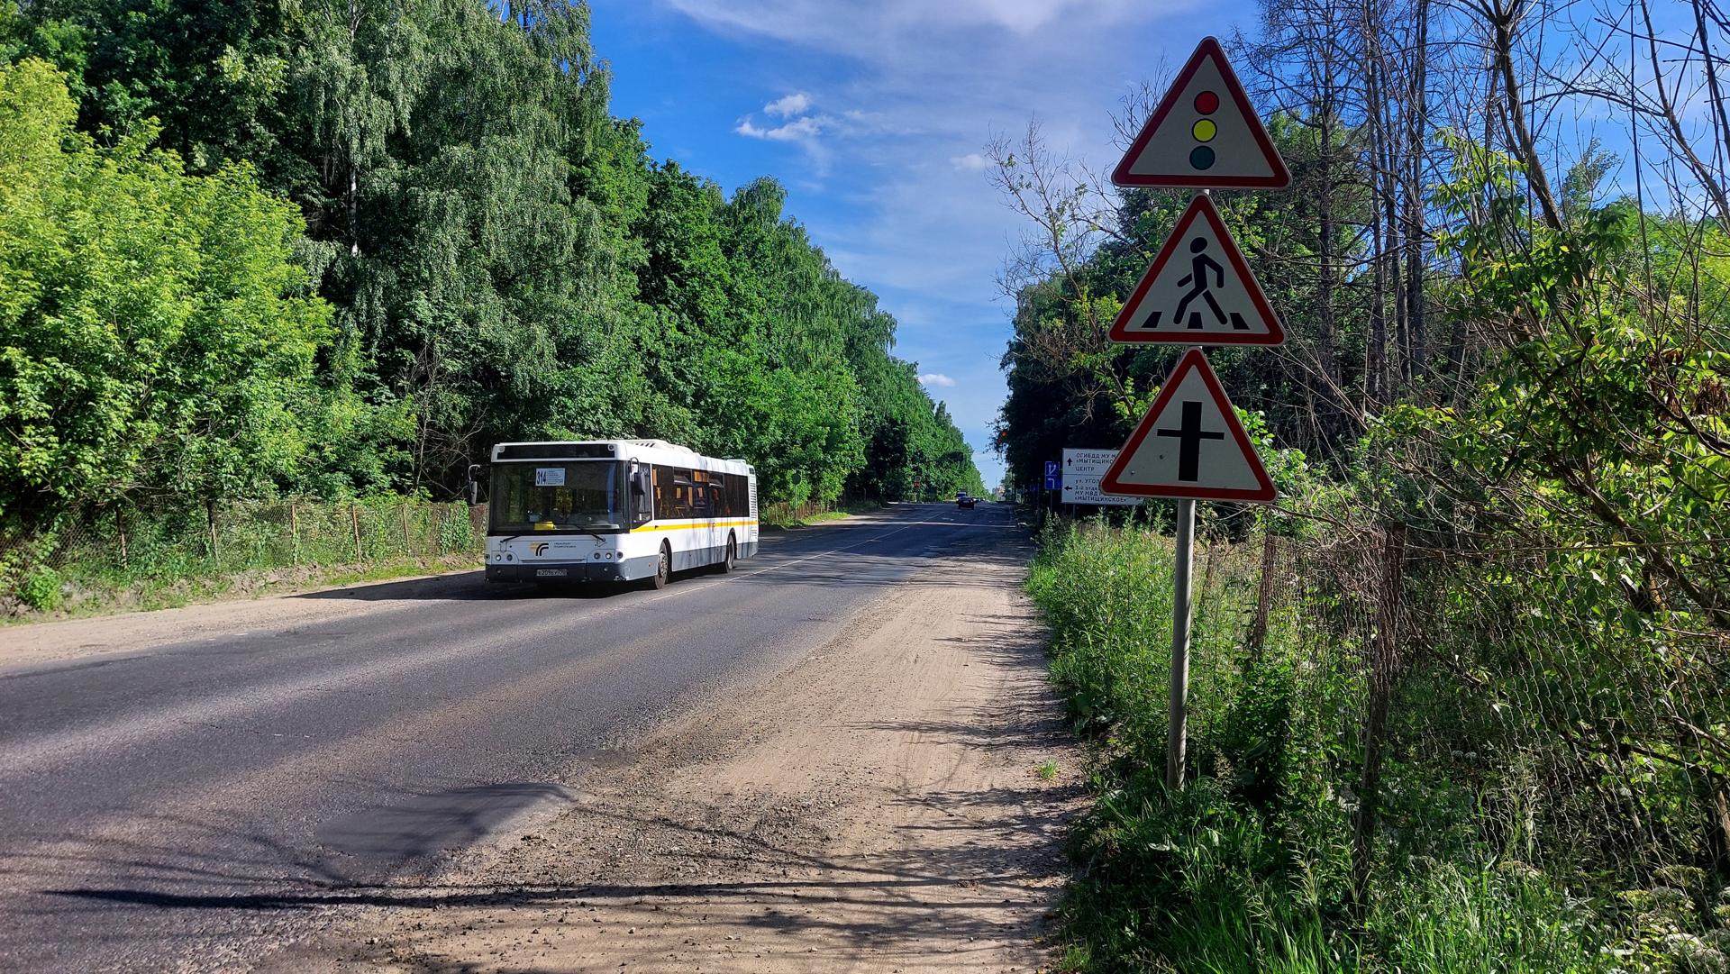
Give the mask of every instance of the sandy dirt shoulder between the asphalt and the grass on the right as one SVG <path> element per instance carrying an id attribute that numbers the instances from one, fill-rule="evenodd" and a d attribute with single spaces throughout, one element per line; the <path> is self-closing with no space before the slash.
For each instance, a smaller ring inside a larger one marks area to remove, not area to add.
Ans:
<path id="1" fill-rule="evenodd" d="M 1043 967 L 1078 789 L 1021 564 L 939 561 L 571 810 L 263 971 Z"/>

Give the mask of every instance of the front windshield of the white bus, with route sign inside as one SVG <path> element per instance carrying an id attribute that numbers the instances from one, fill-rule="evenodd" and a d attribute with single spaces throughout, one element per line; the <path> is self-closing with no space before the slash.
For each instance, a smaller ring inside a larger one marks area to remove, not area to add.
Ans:
<path id="1" fill-rule="evenodd" d="M 495 535 L 621 531 L 628 519 L 625 464 L 616 460 L 493 465 L 490 521 Z"/>

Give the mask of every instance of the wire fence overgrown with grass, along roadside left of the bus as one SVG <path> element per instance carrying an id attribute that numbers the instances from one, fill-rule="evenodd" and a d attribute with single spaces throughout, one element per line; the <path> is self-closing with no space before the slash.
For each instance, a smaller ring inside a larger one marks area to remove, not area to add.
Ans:
<path id="1" fill-rule="evenodd" d="M 455 562 L 477 557 L 484 538 L 486 505 L 396 498 L 107 510 L 0 538 L 0 604 L 24 614 L 386 562 Z"/>

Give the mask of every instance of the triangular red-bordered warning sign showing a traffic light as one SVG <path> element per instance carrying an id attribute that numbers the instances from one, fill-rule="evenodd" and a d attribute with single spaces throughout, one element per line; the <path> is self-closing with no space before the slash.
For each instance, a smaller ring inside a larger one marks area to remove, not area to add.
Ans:
<path id="1" fill-rule="evenodd" d="M 1121 187 L 1280 189 L 1292 182 L 1220 42 L 1202 38 L 1124 152 Z"/>

